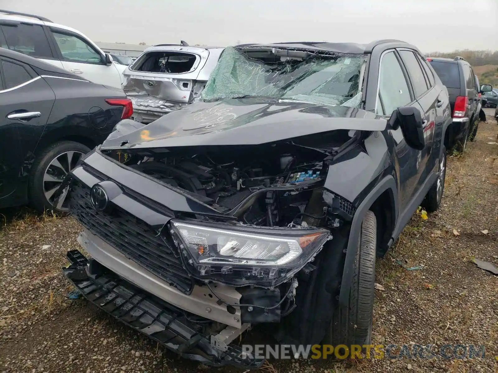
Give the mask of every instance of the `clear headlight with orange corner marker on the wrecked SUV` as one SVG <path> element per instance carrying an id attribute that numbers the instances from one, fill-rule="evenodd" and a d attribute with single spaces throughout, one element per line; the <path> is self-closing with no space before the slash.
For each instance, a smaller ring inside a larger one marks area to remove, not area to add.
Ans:
<path id="1" fill-rule="evenodd" d="M 223 229 L 172 221 L 172 227 L 198 264 L 285 266 L 309 259 L 330 233 L 324 229 Z"/>

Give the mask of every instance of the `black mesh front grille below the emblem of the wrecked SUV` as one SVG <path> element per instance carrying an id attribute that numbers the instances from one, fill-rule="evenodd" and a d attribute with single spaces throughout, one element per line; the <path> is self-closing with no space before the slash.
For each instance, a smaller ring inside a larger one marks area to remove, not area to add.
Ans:
<path id="1" fill-rule="evenodd" d="M 169 285 L 186 294 L 192 291 L 193 281 L 178 254 L 145 222 L 118 206 L 97 212 L 90 188 L 79 182 L 71 188 L 69 203 L 71 214 L 91 233 Z"/>

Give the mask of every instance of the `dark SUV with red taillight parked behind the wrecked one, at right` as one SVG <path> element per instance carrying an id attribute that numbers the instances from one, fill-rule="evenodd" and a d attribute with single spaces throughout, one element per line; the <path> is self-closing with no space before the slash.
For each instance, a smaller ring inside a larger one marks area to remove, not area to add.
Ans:
<path id="1" fill-rule="evenodd" d="M 453 124 L 446 132 L 447 149 L 465 150 L 467 139 L 474 141 L 479 126 L 481 94 L 472 66 L 463 58 L 429 57 L 427 61 L 448 89 Z"/>

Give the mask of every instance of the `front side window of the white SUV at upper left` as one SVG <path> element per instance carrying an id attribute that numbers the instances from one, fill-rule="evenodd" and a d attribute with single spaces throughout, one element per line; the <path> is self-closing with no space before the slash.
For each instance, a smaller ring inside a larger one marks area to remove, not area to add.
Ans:
<path id="1" fill-rule="evenodd" d="M 62 53 L 62 59 L 72 62 L 102 64 L 100 54 L 83 39 L 52 30 L 55 41 Z"/>

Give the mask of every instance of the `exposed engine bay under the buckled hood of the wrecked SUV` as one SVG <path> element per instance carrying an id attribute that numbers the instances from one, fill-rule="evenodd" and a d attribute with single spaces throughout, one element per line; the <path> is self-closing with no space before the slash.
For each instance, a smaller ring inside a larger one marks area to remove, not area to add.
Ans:
<path id="1" fill-rule="evenodd" d="M 319 138 L 301 137 L 299 143 L 104 153 L 242 224 L 338 227 L 351 217 L 352 207 L 336 196 L 325 201 L 323 185 L 329 164 L 355 146 L 359 134 L 342 130 Z M 331 204 L 337 208 L 331 210 Z"/>

